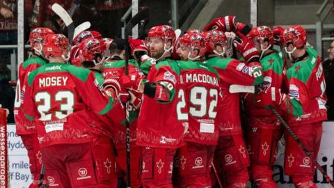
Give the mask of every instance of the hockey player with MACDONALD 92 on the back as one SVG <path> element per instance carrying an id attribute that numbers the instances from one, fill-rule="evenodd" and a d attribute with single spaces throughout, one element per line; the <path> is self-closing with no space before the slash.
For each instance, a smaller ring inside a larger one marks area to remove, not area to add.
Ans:
<path id="1" fill-rule="evenodd" d="M 211 163 L 219 134 L 215 118 L 221 101 L 218 73 L 200 62 L 206 50 L 201 33 L 186 33 L 179 42 L 182 89 L 177 93 L 177 118 L 188 120 L 189 127 L 186 144 L 177 151 L 176 187 L 212 187 Z"/>

